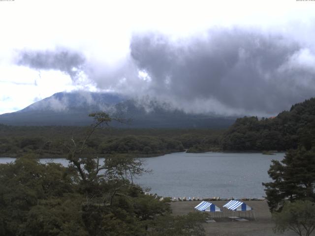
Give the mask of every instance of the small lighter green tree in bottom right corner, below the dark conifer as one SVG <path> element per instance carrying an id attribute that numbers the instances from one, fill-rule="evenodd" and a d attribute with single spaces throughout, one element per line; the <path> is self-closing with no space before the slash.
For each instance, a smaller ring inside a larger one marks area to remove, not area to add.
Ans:
<path id="1" fill-rule="evenodd" d="M 299 236 L 310 236 L 315 229 L 315 203 L 298 200 L 285 202 L 281 212 L 274 212 L 275 232 L 292 230 Z"/>

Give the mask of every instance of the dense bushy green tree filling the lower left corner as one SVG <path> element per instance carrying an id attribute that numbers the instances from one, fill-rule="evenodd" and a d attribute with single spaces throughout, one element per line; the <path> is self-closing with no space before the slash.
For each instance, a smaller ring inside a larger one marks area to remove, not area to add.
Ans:
<path id="1" fill-rule="evenodd" d="M 77 203 L 82 201 L 82 196 L 74 193 L 75 179 L 76 174 L 62 165 L 40 164 L 29 155 L 1 164 L 0 236 L 64 235 L 53 232 L 83 228 L 75 220 L 81 214 Z M 56 225 L 52 224 L 54 219 L 58 219 Z"/>

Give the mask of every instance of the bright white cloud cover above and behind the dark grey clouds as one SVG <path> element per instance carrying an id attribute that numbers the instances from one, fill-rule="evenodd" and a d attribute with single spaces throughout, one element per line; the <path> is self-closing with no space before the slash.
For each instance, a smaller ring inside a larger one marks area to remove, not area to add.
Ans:
<path id="1" fill-rule="evenodd" d="M 138 85 L 143 88 L 143 83 L 150 83 L 151 78 L 146 72 L 139 74 L 126 60 L 130 38 L 135 32 L 158 31 L 185 41 L 191 35 L 203 37 L 209 28 L 252 27 L 266 33 L 290 35 L 315 50 L 315 43 L 310 42 L 315 31 L 314 12 L 315 2 L 296 0 L 3 1 L 0 2 L 0 96 L 10 99 L 0 101 L 0 114 L 22 109 L 35 99 L 63 90 L 100 88 L 137 92 L 134 88 L 140 88 Z M 12 65 L 20 50 L 58 47 L 82 53 L 94 65 L 91 71 L 72 82 L 60 71 L 38 72 Z M 303 51 L 291 60 L 310 66 L 314 55 Z M 140 78 L 127 78 L 129 74 L 139 74 Z M 112 84 L 115 80 L 120 81 L 117 86 Z M 135 86 L 130 87 L 129 83 Z"/>

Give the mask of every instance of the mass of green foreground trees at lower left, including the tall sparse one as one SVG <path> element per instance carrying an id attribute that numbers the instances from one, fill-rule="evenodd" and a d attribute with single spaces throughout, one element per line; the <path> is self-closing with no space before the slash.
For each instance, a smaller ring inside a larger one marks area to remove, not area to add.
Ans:
<path id="1" fill-rule="evenodd" d="M 0 165 L 0 236 L 203 235 L 201 216 L 173 217 L 167 203 L 132 183 L 146 171 L 141 161 L 110 156 L 100 163 L 87 154 L 96 128 L 110 120 L 96 114 L 85 136 L 62 143 L 66 168 L 40 164 L 32 154 Z"/>

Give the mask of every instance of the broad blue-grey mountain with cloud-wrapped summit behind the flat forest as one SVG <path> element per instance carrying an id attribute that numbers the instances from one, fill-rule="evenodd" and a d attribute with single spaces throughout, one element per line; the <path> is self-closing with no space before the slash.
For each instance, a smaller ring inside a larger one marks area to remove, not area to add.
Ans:
<path id="1" fill-rule="evenodd" d="M 88 125 L 88 114 L 104 111 L 131 119 L 130 124 L 113 122 L 128 128 L 225 128 L 235 118 L 187 114 L 169 104 L 146 99 L 141 102 L 116 93 L 59 92 L 37 101 L 23 110 L 0 115 L 0 123 L 9 125 Z"/>

